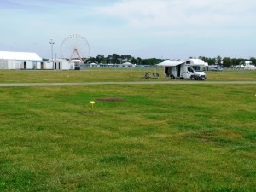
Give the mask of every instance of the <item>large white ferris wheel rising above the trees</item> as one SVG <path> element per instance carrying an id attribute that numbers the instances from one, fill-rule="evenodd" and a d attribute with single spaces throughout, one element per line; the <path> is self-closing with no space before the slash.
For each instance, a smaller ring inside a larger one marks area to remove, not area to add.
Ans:
<path id="1" fill-rule="evenodd" d="M 87 39 L 81 35 L 73 34 L 64 38 L 61 43 L 61 57 L 72 59 L 79 59 L 81 63 L 84 63 L 82 58 L 88 58 L 90 56 L 90 44 Z"/>

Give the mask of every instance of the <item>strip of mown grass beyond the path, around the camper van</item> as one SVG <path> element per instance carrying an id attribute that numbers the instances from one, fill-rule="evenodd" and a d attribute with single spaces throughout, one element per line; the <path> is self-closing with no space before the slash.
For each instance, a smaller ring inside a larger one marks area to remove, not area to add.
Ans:
<path id="1" fill-rule="evenodd" d="M 158 72 L 160 79 L 143 79 L 145 72 Z M 171 81 L 164 77 L 163 68 L 104 68 L 87 67 L 81 71 L 58 70 L 0 70 L 1 83 L 80 83 L 122 81 Z M 256 81 L 256 71 L 232 70 L 206 72 L 207 81 Z M 179 79 L 176 79 L 179 81 Z M 184 80 L 181 80 L 184 81 Z"/>

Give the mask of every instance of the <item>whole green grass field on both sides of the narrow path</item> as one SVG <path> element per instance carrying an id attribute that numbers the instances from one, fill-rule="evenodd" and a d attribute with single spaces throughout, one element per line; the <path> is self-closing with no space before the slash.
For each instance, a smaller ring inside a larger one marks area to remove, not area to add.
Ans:
<path id="1" fill-rule="evenodd" d="M 142 76 L 0 71 L 0 82 Z M 255 94 L 255 84 L 0 87 L 0 191 L 255 191 Z"/>

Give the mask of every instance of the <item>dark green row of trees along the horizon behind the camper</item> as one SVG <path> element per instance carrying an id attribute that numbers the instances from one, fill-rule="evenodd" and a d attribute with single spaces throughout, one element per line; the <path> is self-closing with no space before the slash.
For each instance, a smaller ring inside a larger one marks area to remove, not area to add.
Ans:
<path id="1" fill-rule="evenodd" d="M 221 56 L 217 56 L 216 58 L 200 56 L 199 59 L 207 62 L 209 65 L 223 65 L 223 67 L 236 66 L 241 64 L 242 61 L 247 61 L 247 59 L 242 59 L 242 58 L 230 58 L 230 57 L 222 58 Z M 90 57 L 89 59 L 86 59 L 86 62 L 88 61 L 96 61 L 98 63 L 112 63 L 112 64 L 122 64 L 125 62 L 131 62 L 132 64 L 137 64 L 137 65 L 155 65 L 164 60 L 156 59 L 156 58 L 142 59 L 140 57 L 135 58 L 131 55 L 113 54 L 113 55 L 108 55 L 107 57 L 105 57 L 104 55 L 97 55 L 96 57 Z M 256 58 L 252 57 L 250 58 L 250 61 L 253 62 L 253 65 L 256 65 Z"/>

